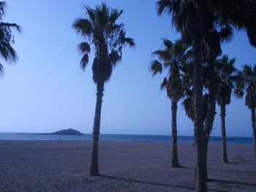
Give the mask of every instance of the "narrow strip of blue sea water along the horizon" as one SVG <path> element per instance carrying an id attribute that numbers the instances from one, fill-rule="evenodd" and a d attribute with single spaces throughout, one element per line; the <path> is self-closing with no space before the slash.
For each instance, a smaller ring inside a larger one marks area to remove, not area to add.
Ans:
<path id="1" fill-rule="evenodd" d="M 91 134 L 84 135 L 49 135 L 49 134 L 18 134 L 0 133 L 0 140 L 91 140 Z M 100 140 L 110 141 L 141 141 L 141 142 L 163 142 L 170 141 L 168 135 L 135 135 L 135 134 L 100 134 Z M 179 142 L 193 142 L 192 136 L 178 136 Z M 211 137 L 210 142 L 222 142 L 221 137 Z M 252 143 L 252 137 L 227 137 L 229 143 Z"/>

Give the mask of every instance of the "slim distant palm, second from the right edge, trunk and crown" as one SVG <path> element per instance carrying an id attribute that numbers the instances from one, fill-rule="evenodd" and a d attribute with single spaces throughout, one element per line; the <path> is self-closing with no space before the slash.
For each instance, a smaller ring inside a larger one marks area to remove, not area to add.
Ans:
<path id="1" fill-rule="evenodd" d="M 222 128 L 222 161 L 227 163 L 227 146 L 226 146 L 226 106 L 230 104 L 231 94 L 234 88 L 234 81 L 236 80 L 236 59 L 229 59 L 227 55 L 223 55 L 216 62 L 217 73 L 217 103 L 220 107 L 221 128 Z"/>

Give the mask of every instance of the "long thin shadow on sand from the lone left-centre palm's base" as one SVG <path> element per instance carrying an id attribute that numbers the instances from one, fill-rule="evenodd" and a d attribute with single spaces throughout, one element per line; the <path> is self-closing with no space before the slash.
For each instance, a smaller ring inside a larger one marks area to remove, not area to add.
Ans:
<path id="1" fill-rule="evenodd" d="M 125 179 L 125 178 L 120 178 L 120 177 L 113 177 L 113 176 L 108 176 L 108 175 L 100 175 L 100 176 L 108 178 L 108 179 L 111 179 L 111 180 L 123 180 L 123 181 L 133 182 L 133 183 L 158 185 L 158 186 L 171 187 L 171 188 L 186 188 L 186 189 L 191 189 L 191 190 L 194 190 L 194 191 L 196 189 L 194 187 L 188 187 L 188 186 L 184 186 L 184 185 L 169 185 L 169 184 L 165 184 L 165 183 L 146 182 L 146 181 L 141 181 L 141 180 L 131 180 L 131 179 Z M 211 189 L 208 189 L 208 191 L 226 192 L 226 191 L 211 190 Z"/>

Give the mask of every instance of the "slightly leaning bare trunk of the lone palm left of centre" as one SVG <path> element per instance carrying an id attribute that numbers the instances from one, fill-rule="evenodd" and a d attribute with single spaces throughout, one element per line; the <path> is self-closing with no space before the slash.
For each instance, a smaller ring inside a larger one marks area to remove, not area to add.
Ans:
<path id="1" fill-rule="evenodd" d="M 99 143 L 99 128 L 100 128 L 100 116 L 102 109 L 102 97 L 104 91 L 104 82 L 97 83 L 97 101 L 94 115 L 94 128 L 93 128 L 93 143 L 91 147 L 91 164 L 89 167 L 89 174 L 98 176 L 99 165 L 98 165 L 98 143 Z"/>

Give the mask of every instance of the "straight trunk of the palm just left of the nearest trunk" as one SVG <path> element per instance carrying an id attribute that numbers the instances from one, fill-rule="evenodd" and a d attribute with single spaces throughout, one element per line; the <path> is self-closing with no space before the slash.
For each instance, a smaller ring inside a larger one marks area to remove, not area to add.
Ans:
<path id="1" fill-rule="evenodd" d="M 172 100 L 172 158 L 170 166 L 178 167 L 178 147 L 177 147 L 177 102 Z"/>

